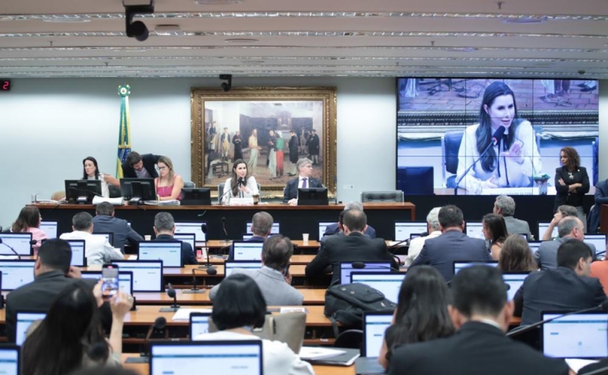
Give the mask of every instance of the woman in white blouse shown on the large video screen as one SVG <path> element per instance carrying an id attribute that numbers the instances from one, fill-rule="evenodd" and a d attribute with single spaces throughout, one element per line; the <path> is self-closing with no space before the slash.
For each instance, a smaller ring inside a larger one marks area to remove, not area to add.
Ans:
<path id="1" fill-rule="evenodd" d="M 499 128 L 505 131 L 495 139 L 501 133 Z M 491 83 L 483 92 L 479 123 L 466 128 L 460 143 L 458 187 L 468 194 L 481 194 L 488 188 L 528 187 L 531 177 L 540 172 L 534 130 L 530 122 L 519 119 L 515 94 L 503 82 Z"/>

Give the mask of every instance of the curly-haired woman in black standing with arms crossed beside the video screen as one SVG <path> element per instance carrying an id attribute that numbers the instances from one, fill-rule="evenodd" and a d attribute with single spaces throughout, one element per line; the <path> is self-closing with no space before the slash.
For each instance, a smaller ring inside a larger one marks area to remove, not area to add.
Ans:
<path id="1" fill-rule="evenodd" d="M 564 147 L 559 150 L 561 167 L 555 170 L 555 205 L 553 212 L 562 204 L 576 207 L 576 216 L 585 225 L 587 233 L 587 219 L 582 209 L 582 199 L 589 193 L 589 175 L 587 169 L 581 167 L 581 157 L 573 147 Z"/>

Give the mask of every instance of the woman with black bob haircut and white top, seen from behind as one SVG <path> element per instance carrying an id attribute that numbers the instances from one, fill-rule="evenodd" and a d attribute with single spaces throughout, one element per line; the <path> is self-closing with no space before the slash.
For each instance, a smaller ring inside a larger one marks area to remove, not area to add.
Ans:
<path id="1" fill-rule="evenodd" d="M 195 340 L 258 340 L 251 331 L 261 328 L 266 317 L 260 287 L 247 275 L 230 275 L 215 296 L 211 317 L 219 331 L 198 335 Z M 264 375 L 314 374 L 312 366 L 283 342 L 263 339 L 262 358 Z"/>

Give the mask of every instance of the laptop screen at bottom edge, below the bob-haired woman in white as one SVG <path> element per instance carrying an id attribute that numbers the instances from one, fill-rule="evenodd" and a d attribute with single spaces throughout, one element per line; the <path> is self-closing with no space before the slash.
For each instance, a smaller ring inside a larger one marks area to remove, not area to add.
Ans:
<path id="1" fill-rule="evenodd" d="M 261 340 L 151 343 L 150 375 L 262 374 Z"/>

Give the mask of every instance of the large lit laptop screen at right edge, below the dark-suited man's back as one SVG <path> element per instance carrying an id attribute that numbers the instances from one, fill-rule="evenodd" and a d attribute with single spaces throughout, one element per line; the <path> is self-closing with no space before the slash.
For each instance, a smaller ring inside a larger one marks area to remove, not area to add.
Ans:
<path id="1" fill-rule="evenodd" d="M 543 312 L 548 319 L 561 313 Z M 608 314 L 572 314 L 542 325 L 545 356 L 556 358 L 603 358 L 608 356 Z"/>

